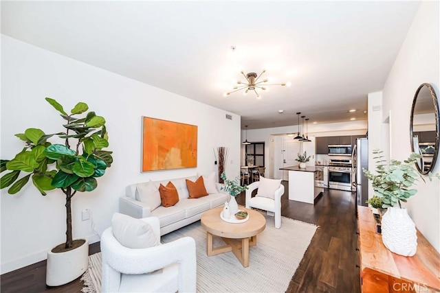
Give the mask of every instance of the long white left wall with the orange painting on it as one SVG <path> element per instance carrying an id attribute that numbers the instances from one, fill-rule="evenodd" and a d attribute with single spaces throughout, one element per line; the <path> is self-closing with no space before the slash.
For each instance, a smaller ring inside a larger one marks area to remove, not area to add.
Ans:
<path id="1" fill-rule="evenodd" d="M 164 77 L 166 78 L 166 77 Z M 60 132 L 63 119 L 45 102 L 52 97 L 70 110 L 86 102 L 107 120 L 109 150 L 114 163 L 98 178 L 98 188 L 73 198 L 74 237 L 99 240 L 91 221 L 80 221 L 91 209 L 95 230 L 110 226 L 118 198 L 126 185 L 167 178 L 209 174 L 217 170 L 213 149 L 230 148 L 226 172 L 239 175 L 240 117 L 115 73 L 28 45 L 1 38 L 1 159 L 12 159 L 23 143 L 14 134 L 26 128 Z M 141 117 L 154 117 L 198 126 L 197 168 L 140 172 Z M 3 173 L 4 174 L 4 173 Z M 29 183 L 11 196 L 1 190 L 1 273 L 46 258 L 46 251 L 65 242 L 65 199 L 61 191 L 41 196 Z"/>

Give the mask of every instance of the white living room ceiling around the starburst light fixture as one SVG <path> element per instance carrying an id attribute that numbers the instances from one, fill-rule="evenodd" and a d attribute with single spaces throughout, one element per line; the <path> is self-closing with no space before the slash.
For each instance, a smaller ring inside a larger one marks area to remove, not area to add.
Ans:
<path id="1" fill-rule="evenodd" d="M 367 94 L 383 89 L 418 7 L 418 1 L 1 1 L 1 32 L 239 114 L 242 127 L 254 129 L 296 125 L 296 112 L 318 123 L 366 119 Z M 241 69 L 266 69 L 264 77 L 292 86 L 272 86 L 261 99 L 241 92 L 223 97 Z"/>

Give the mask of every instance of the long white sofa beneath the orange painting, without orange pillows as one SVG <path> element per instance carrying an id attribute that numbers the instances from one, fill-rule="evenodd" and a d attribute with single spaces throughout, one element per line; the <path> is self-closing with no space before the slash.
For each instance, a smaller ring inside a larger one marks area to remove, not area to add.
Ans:
<path id="1" fill-rule="evenodd" d="M 211 177 L 211 176 L 210 176 Z M 149 181 L 146 183 L 136 183 L 126 187 L 126 196 L 120 198 L 119 201 L 119 211 L 126 215 L 130 215 L 133 218 L 147 218 L 155 216 L 159 218 L 160 222 L 160 235 L 165 235 L 171 231 L 175 231 L 178 228 L 191 224 L 200 220 L 201 214 L 208 209 L 214 207 L 219 207 L 226 201 L 229 201 L 230 195 L 221 191 L 221 184 L 211 182 L 212 185 L 216 185 L 214 190 L 208 189 L 212 193 L 208 196 L 203 196 L 201 198 L 189 198 L 188 188 L 186 187 L 186 179 L 195 182 L 198 176 L 191 176 L 187 178 L 177 178 L 170 180 L 161 181 Z M 206 177 L 203 176 L 205 180 Z M 213 177 L 212 177 L 213 180 Z M 166 186 L 168 181 L 171 181 L 177 189 L 179 194 L 179 202 L 173 207 L 163 207 L 162 204 L 159 207 L 151 209 L 151 201 L 160 201 L 159 191 L 155 192 L 151 189 L 151 184 L 153 183 L 157 188 L 159 184 Z M 205 180 L 206 181 L 206 180 Z M 209 183 L 205 182 L 205 186 Z M 146 186 L 149 185 L 149 192 L 146 194 Z M 217 189 L 217 190 L 215 190 Z M 213 193 L 217 191 L 217 193 Z M 143 193 L 143 194 L 142 194 Z M 157 199 L 156 197 L 159 196 Z M 141 201 L 142 200 L 142 201 Z"/>

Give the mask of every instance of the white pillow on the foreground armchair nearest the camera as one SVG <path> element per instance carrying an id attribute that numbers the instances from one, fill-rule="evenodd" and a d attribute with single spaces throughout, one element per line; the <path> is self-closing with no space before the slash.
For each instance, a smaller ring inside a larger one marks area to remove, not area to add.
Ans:
<path id="1" fill-rule="evenodd" d="M 113 236 L 128 248 L 148 248 L 157 245 L 157 237 L 150 224 L 129 215 L 114 213 L 111 218 Z"/>

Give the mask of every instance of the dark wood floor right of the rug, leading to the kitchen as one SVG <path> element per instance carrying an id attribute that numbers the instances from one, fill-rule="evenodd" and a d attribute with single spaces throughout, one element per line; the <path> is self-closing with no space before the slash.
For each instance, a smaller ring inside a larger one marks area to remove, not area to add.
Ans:
<path id="1" fill-rule="evenodd" d="M 355 193 L 325 189 L 306 204 L 289 200 L 283 185 L 281 215 L 319 226 L 286 292 L 360 292 Z M 244 196 L 237 202 L 244 204 Z"/>

